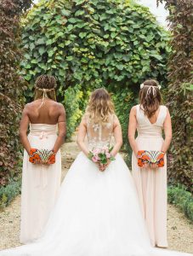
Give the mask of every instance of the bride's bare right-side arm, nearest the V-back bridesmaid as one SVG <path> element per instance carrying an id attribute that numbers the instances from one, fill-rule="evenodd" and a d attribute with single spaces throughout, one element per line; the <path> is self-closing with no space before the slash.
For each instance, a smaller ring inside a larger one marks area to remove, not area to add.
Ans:
<path id="1" fill-rule="evenodd" d="M 115 156 L 119 152 L 120 148 L 122 147 L 122 126 L 120 125 L 119 119 L 117 119 L 117 117 L 114 121 L 113 133 L 116 140 L 116 144 L 112 148 L 111 154 L 112 156 Z"/>

